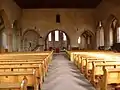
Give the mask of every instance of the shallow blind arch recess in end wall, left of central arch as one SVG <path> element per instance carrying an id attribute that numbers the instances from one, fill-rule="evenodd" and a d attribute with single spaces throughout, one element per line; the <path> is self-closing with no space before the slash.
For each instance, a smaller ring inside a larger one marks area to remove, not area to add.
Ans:
<path id="1" fill-rule="evenodd" d="M 32 51 L 39 45 L 40 35 L 34 29 L 26 30 L 22 35 L 22 45 L 24 51 Z"/>

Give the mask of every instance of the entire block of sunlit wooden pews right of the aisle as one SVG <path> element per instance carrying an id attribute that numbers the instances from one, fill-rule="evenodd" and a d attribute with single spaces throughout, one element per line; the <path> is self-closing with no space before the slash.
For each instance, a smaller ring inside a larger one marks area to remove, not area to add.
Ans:
<path id="1" fill-rule="evenodd" d="M 66 51 L 96 90 L 120 90 L 120 54 L 112 51 Z"/>

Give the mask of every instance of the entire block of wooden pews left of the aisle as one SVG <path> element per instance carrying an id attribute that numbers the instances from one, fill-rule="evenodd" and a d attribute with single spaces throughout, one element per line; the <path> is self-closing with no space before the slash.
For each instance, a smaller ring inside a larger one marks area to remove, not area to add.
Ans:
<path id="1" fill-rule="evenodd" d="M 0 90 L 41 90 L 52 56 L 53 51 L 0 54 Z"/>

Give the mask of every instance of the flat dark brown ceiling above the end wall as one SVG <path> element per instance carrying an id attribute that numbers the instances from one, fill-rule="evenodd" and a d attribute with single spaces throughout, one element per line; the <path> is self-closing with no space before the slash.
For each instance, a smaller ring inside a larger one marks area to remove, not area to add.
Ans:
<path id="1" fill-rule="evenodd" d="M 22 9 L 96 8 L 102 0 L 14 0 Z"/>

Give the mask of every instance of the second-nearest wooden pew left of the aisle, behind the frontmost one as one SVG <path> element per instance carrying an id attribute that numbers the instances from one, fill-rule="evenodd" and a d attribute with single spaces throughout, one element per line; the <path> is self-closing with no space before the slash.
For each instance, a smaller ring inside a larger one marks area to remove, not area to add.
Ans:
<path id="1" fill-rule="evenodd" d="M 26 80 L 27 86 L 33 86 L 34 90 L 38 90 L 39 82 L 38 82 L 38 78 L 35 75 L 35 72 L 36 71 L 2 72 L 0 73 L 0 86 L 1 86 L 0 88 L 5 88 L 5 86 L 7 87 L 7 85 L 9 85 L 9 87 L 7 88 L 10 88 L 11 85 L 14 85 L 14 84 L 15 86 L 16 85 L 19 86 L 22 80 Z M 29 77 L 31 77 L 31 79 Z"/>

